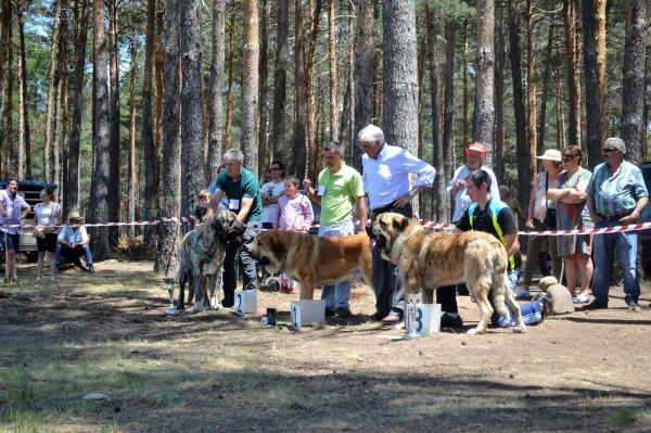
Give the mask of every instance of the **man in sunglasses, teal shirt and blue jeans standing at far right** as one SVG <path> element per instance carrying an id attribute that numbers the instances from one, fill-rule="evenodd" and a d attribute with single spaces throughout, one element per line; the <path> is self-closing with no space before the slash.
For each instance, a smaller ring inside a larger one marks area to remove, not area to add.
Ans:
<path id="1" fill-rule="evenodd" d="M 609 138 L 601 148 L 603 164 L 595 167 L 588 184 L 588 211 L 596 228 L 637 224 L 647 203 L 649 191 L 640 168 L 624 161 L 626 145 L 618 138 Z M 595 235 L 595 301 L 584 309 L 608 308 L 608 292 L 615 260 L 614 250 L 622 260 L 624 301 L 630 310 L 641 313 L 638 297 L 640 281 L 637 273 L 638 231 L 620 231 Z"/>

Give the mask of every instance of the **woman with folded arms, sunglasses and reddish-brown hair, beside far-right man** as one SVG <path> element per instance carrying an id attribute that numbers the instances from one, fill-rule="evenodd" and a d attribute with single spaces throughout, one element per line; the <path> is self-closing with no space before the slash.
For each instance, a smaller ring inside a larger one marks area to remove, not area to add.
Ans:
<path id="1" fill-rule="evenodd" d="M 586 188 L 592 174 L 580 166 L 583 153 L 577 145 L 563 149 L 561 162 L 563 171 L 560 175 L 559 188 L 547 191 L 547 198 L 556 202 L 557 230 L 580 230 L 589 228 L 584 217 L 589 219 L 586 204 Z M 585 212 L 585 215 L 583 215 Z M 589 302 L 590 280 L 592 279 L 591 234 L 564 234 L 558 237 L 559 256 L 565 262 L 567 290 L 575 304 Z M 580 292 L 576 295 L 577 278 L 580 276 Z"/>

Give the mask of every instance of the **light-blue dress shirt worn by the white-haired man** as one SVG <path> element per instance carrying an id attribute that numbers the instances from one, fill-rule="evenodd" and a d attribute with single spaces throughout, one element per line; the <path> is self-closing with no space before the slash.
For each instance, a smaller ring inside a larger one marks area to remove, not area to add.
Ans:
<path id="1" fill-rule="evenodd" d="M 436 170 L 407 149 L 384 143 L 376 160 L 361 157 L 363 189 L 371 209 L 384 207 L 411 189 L 409 175 L 418 175 L 416 187 L 432 187 Z"/>

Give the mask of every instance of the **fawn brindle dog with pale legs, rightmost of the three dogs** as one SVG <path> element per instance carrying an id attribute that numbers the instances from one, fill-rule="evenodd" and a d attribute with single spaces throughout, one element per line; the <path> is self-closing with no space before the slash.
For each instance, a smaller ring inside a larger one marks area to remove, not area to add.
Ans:
<path id="1" fill-rule="evenodd" d="M 505 302 L 511 308 L 518 323 L 513 331 L 526 332 L 509 285 L 507 251 L 494 235 L 482 231 L 454 234 L 427 231 L 394 213 L 380 215 L 367 232 L 382 257 L 400 269 L 406 293 L 465 282 L 482 314 L 480 324 L 469 334 L 486 332 L 493 315 L 488 294 L 502 317 L 509 318 Z"/>

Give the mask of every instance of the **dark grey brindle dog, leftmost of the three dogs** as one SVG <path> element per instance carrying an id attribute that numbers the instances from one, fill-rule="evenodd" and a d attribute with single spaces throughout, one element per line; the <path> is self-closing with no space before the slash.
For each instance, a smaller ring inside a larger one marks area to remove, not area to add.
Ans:
<path id="1" fill-rule="evenodd" d="M 186 282 L 190 283 L 188 302 L 194 294 L 195 313 L 204 309 L 216 309 L 219 300 L 215 297 L 215 285 L 221 271 L 226 245 L 229 241 L 242 235 L 246 225 L 239 221 L 230 211 L 217 211 L 204 222 L 189 231 L 181 241 L 179 250 L 179 310 L 186 308 Z M 210 284 L 208 298 L 206 284 Z"/>

